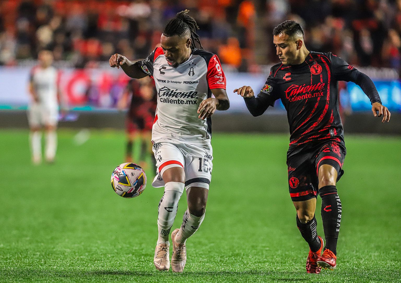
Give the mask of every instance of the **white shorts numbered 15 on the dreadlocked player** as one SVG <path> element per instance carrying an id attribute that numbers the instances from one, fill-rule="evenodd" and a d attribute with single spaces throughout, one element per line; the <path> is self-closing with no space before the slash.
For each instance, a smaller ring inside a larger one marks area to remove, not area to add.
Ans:
<path id="1" fill-rule="evenodd" d="M 201 187 L 209 190 L 213 169 L 211 144 L 192 145 L 160 142 L 153 145 L 157 172 L 152 186 L 164 186 L 163 173 L 168 168 L 182 167 L 185 172 L 185 188 Z"/>

